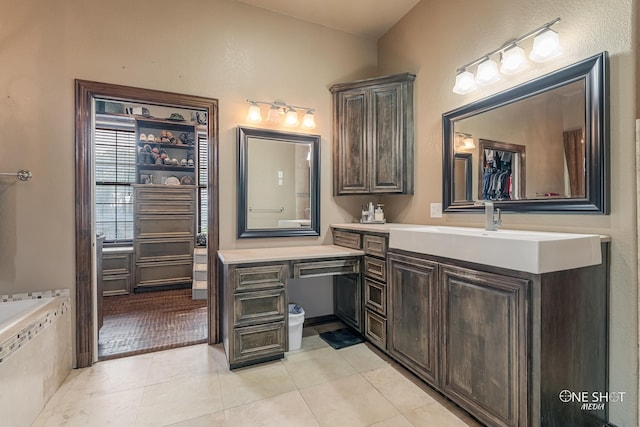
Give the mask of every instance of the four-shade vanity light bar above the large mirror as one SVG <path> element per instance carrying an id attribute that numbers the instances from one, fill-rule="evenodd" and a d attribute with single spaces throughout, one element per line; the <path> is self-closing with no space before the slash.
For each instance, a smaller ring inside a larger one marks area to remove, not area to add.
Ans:
<path id="1" fill-rule="evenodd" d="M 529 31 L 527 34 L 503 44 L 498 49 L 488 52 L 478 59 L 456 70 L 456 83 L 453 92 L 459 95 L 466 95 L 473 92 L 478 86 L 489 85 L 500 80 L 500 73 L 505 75 L 516 74 L 529 67 L 529 61 L 524 49 L 518 46 L 523 40 L 535 36 L 533 49 L 529 54 L 529 59 L 534 62 L 545 62 L 562 55 L 560 46 L 560 36 L 551 27 L 558 23 L 560 18 L 549 21 L 546 24 Z M 500 69 L 498 63 L 491 59 L 493 55 L 500 54 Z M 476 74 L 469 71 L 469 68 L 476 66 Z"/>

